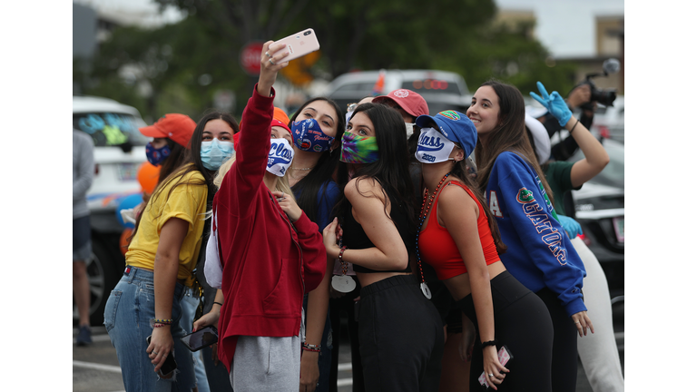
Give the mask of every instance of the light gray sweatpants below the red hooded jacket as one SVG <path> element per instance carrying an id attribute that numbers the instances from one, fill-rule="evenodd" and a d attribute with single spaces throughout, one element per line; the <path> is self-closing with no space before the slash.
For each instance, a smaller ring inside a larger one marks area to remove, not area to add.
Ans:
<path id="1" fill-rule="evenodd" d="M 238 337 L 230 369 L 232 389 L 298 392 L 300 346 L 299 337 Z"/>

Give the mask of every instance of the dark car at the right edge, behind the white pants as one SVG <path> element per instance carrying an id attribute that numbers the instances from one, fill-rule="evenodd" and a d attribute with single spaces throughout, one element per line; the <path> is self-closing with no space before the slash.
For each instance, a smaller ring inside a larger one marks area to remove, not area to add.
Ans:
<path id="1" fill-rule="evenodd" d="M 614 316 L 623 317 L 624 296 L 624 144 L 604 139 L 610 163 L 578 191 L 572 191 L 582 239 L 600 261 L 614 300 Z M 570 162 L 584 158 L 576 152 Z"/>

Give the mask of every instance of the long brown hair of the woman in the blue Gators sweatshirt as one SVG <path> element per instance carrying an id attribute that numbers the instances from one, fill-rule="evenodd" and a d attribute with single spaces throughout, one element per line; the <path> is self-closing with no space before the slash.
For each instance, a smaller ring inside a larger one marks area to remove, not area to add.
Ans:
<path id="1" fill-rule="evenodd" d="M 498 121 L 500 125 L 492 131 L 486 140 L 486 149 L 481 139 L 476 141 L 475 156 L 479 190 L 486 191 L 491 169 L 496 157 L 502 152 L 515 152 L 522 157 L 537 173 L 545 187 L 549 201 L 554 205 L 554 195 L 545 179 L 545 172 L 540 168 L 535 150 L 525 133 L 525 101 L 523 94 L 514 86 L 496 80 L 482 83 L 480 87 L 489 86 L 498 96 Z M 486 209 L 488 210 L 488 209 Z"/>

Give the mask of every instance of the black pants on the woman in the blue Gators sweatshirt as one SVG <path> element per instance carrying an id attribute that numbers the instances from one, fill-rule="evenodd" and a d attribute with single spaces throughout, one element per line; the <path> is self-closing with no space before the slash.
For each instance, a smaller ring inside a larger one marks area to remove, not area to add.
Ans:
<path id="1" fill-rule="evenodd" d="M 557 295 L 550 289 L 541 289 L 535 294 L 545 302 L 555 327 L 555 342 L 552 349 L 552 390 L 574 392 L 578 374 L 578 329 L 574 319 L 566 315 Z"/>

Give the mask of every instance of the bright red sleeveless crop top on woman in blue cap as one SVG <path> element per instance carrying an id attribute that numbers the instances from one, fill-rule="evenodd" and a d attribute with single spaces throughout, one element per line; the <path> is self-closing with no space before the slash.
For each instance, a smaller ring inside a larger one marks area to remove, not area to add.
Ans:
<path id="1" fill-rule="evenodd" d="M 476 220 L 476 226 L 479 230 L 479 240 L 482 242 L 482 250 L 484 250 L 484 259 L 486 265 L 493 264 L 499 260 L 498 252 L 496 252 L 496 244 L 489 230 L 489 222 L 486 219 L 486 212 L 482 209 L 482 205 L 476 200 L 476 197 L 469 188 L 459 181 L 450 181 L 451 184 L 458 185 L 464 189 L 467 194 L 476 202 L 479 207 L 479 218 Z M 418 235 L 418 252 L 421 260 L 430 264 L 435 270 L 438 279 L 450 279 L 457 275 L 467 272 L 465 262 L 462 260 L 460 251 L 457 250 L 455 240 L 450 236 L 446 228 L 438 224 L 437 206 L 438 197 L 433 202 L 433 211 L 428 218 L 426 230 L 423 230 Z"/>

